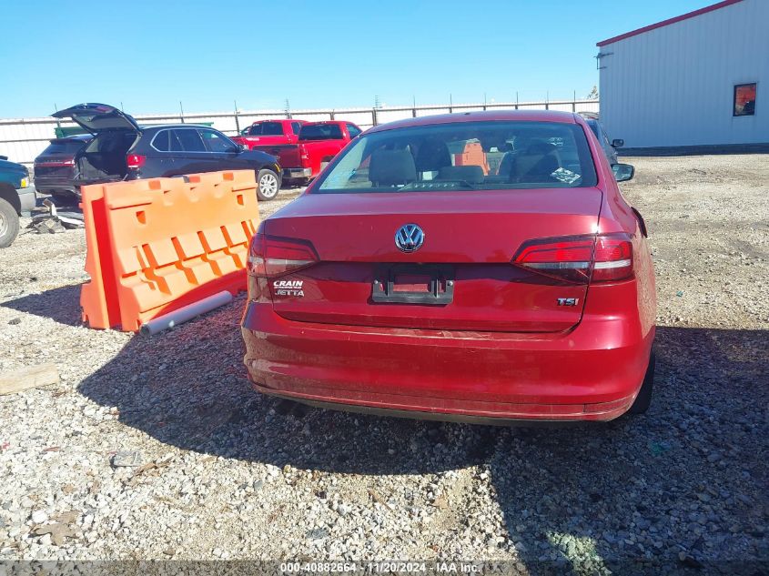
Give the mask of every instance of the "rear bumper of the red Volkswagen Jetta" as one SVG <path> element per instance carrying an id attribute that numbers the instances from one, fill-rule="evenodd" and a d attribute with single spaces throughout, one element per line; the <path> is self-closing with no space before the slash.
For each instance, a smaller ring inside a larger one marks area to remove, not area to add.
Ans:
<path id="1" fill-rule="evenodd" d="M 637 316 L 637 311 L 636 311 Z M 245 363 L 266 394 L 414 418 L 610 420 L 643 382 L 654 338 L 638 318 L 569 332 L 501 334 L 340 327 L 249 303 Z"/>

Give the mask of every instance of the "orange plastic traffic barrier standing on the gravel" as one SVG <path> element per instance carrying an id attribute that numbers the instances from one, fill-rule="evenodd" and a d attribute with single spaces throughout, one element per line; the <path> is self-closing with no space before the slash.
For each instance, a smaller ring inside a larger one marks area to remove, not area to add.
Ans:
<path id="1" fill-rule="evenodd" d="M 83 187 L 92 328 L 126 331 L 228 290 L 246 289 L 258 226 L 252 170 Z"/>

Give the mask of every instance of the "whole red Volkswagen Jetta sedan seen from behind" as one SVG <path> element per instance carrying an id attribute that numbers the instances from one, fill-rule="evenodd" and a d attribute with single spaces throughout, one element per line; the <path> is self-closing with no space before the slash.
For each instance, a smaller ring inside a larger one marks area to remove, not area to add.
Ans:
<path id="1" fill-rule="evenodd" d="M 568 113 L 370 129 L 252 240 L 254 387 L 416 418 L 643 412 L 654 275 L 630 177 Z"/>

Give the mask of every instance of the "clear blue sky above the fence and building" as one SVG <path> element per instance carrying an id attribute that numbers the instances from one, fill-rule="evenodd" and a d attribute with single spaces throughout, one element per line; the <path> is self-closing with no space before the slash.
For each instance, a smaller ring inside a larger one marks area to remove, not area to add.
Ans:
<path id="1" fill-rule="evenodd" d="M 0 117 L 585 96 L 597 41 L 711 3 L 9 0 Z"/>

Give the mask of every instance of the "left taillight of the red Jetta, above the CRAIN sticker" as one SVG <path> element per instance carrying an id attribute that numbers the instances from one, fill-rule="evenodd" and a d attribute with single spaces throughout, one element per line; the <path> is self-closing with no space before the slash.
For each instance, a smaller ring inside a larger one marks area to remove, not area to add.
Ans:
<path id="1" fill-rule="evenodd" d="M 251 240 L 248 273 L 258 278 L 275 278 L 316 262 L 315 248 L 306 240 L 257 234 Z"/>

